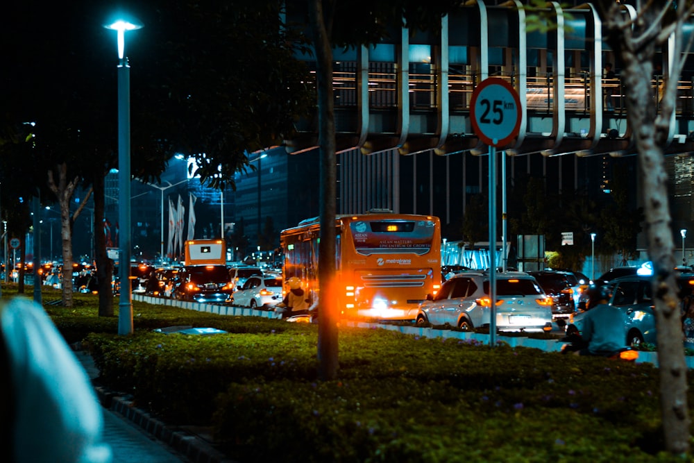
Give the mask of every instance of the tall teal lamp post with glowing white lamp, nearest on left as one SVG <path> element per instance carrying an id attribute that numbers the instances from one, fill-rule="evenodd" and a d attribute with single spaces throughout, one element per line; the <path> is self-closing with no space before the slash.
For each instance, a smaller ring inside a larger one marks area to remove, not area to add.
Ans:
<path id="1" fill-rule="evenodd" d="M 118 273 L 121 285 L 118 334 L 129 335 L 133 332 L 133 295 L 130 291 L 130 65 L 125 56 L 125 33 L 141 28 L 142 24 L 119 19 L 104 27 L 118 33 Z"/>

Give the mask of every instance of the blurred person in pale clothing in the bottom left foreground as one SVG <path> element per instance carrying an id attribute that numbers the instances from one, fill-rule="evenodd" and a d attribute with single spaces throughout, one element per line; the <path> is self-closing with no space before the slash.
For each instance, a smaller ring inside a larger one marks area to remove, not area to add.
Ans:
<path id="1" fill-rule="evenodd" d="M 6 461 L 112 460 L 89 377 L 40 305 L 25 298 L 0 305 L 0 369 Z"/>

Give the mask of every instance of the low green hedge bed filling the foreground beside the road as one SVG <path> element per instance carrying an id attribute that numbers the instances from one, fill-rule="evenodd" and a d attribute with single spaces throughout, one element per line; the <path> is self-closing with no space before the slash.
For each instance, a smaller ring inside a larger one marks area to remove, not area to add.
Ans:
<path id="1" fill-rule="evenodd" d="M 64 334 L 91 332 L 103 385 L 210 426 L 239 461 L 688 461 L 661 451 L 650 364 L 341 327 L 339 379 L 319 382 L 316 326 L 133 303 L 119 336 L 94 299 L 47 310 Z M 174 325 L 230 333 L 152 332 Z"/>

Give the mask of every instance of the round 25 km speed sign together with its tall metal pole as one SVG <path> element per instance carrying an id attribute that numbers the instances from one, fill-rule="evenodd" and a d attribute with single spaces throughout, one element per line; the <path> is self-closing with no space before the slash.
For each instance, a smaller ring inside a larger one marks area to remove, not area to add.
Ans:
<path id="1" fill-rule="evenodd" d="M 518 137 L 521 100 L 507 81 L 486 78 L 477 85 L 470 101 L 475 135 L 489 146 L 489 345 L 496 345 L 496 148 Z M 502 253 L 505 250 L 502 249 Z"/>

